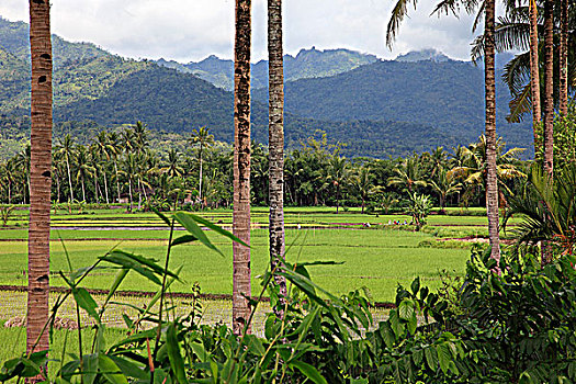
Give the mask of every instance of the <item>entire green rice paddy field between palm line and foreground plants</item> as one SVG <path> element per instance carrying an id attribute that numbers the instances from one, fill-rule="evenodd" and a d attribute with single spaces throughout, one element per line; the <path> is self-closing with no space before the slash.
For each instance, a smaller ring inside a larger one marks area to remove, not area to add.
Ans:
<path id="1" fill-rule="evenodd" d="M 286 208 L 286 259 L 290 262 L 337 262 L 309 268 L 313 280 L 335 294 L 365 289 L 374 302 L 393 302 L 397 285 L 409 285 L 416 276 L 436 290 L 441 285 L 441 271 L 452 275 L 464 273 L 471 242 L 458 239 L 487 236 L 484 210 L 451 208 L 447 213 L 429 216 L 428 226 L 415 233 L 409 226 L 393 224 L 409 222 L 409 217 L 403 215 L 361 214 L 359 208 L 341 210 L 338 214 L 330 207 Z M 199 214 L 224 228 L 229 229 L 231 225 L 230 211 Z M 8 226 L 0 230 L 0 285 L 26 284 L 26 210 L 15 211 Z M 513 223 L 512 219 L 511 225 Z M 267 225 L 267 208 L 253 208 L 251 268 L 255 295 L 260 292 L 259 276 L 268 264 Z M 58 211 L 52 217 L 52 226 L 53 286 L 65 286 L 59 271 L 69 270 L 66 253 L 75 269 L 92 264 L 113 248 L 157 260 L 166 257 L 169 230 L 154 213 L 131 214 L 121 208 L 84 210 L 71 214 Z M 207 231 L 207 236 L 224 256 L 199 244 L 173 248 L 170 269 L 181 268 L 182 280 L 172 284 L 173 292 L 190 293 L 197 282 L 203 293 L 231 293 L 231 244 L 213 231 Z M 441 241 L 445 239 L 451 240 Z M 84 286 L 105 290 L 112 284 L 115 273 L 114 269 L 98 270 L 84 280 Z M 132 274 L 120 290 L 156 292 L 157 286 Z M 129 300 L 135 301 L 133 305 L 136 306 L 146 301 L 142 297 Z M 185 301 L 181 304 L 185 307 Z M 231 305 L 227 301 L 206 300 L 203 305 L 203 320 L 206 323 L 227 321 L 230 317 Z M 25 293 L 0 291 L 0 320 L 24 316 Z M 110 326 L 122 326 L 118 320 L 122 310 L 118 308 L 117 313 L 109 315 Z M 266 305 L 261 310 L 262 314 L 268 310 Z M 64 312 L 63 316 L 74 313 Z M 259 316 L 257 323 L 263 319 L 263 315 Z"/>

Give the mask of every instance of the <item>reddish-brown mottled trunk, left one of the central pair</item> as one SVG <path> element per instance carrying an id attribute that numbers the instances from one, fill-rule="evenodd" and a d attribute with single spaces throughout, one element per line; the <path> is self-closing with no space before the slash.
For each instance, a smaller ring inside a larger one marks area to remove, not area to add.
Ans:
<path id="1" fill-rule="evenodd" d="M 251 0 L 236 0 L 233 233 L 246 244 L 250 244 L 250 11 Z M 240 335 L 250 316 L 250 248 L 234 242 L 233 253 L 233 330 Z"/>

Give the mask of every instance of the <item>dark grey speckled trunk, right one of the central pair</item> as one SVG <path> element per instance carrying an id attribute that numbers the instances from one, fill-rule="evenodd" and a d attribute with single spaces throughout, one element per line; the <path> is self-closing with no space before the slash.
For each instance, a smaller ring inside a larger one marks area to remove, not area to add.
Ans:
<path id="1" fill-rule="evenodd" d="M 282 0 L 268 0 L 268 66 L 269 66 L 269 199 L 270 199 L 270 266 L 273 270 L 284 260 L 284 63 L 282 57 Z M 280 304 L 286 296 L 286 280 L 274 278 L 280 289 Z M 284 316 L 276 309 L 279 318 Z"/>

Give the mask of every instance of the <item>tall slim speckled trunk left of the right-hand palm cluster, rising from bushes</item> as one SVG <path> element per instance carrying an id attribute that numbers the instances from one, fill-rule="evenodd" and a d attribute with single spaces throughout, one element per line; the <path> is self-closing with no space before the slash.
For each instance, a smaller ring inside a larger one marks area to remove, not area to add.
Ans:
<path id="1" fill-rule="evenodd" d="M 485 2 L 484 76 L 486 87 L 486 210 L 490 237 L 492 258 L 500 262 L 500 238 L 498 234 L 498 179 L 496 176 L 496 82 L 494 69 L 495 0 Z"/>

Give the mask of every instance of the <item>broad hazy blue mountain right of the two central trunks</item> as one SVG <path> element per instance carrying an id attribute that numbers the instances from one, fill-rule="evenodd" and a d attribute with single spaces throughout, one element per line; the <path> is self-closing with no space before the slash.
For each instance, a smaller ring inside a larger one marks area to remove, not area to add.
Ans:
<path id="1" fill-rule="evenodd" d="M 286 82 L 285 110 L 328 121 L 399 121 L 432 126 L 460 137 L 484 131 L 484 72 L 465 61 L 376 61 L 328 78 Z M 253 91 L 266 103 L 264 89 Z M 509 92 L 498 79 L 497 126 L 505 140 L 530 147 L 529 124 L 509 124 Z"/>

